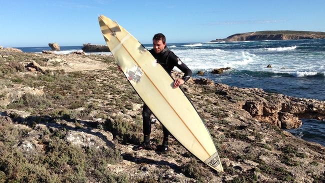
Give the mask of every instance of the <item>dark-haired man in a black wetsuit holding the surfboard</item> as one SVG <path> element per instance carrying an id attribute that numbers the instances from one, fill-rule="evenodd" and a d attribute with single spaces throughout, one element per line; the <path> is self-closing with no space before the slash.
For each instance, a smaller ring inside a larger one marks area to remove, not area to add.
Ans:
<path id="1" fill-rule="evenodd" d="M 177 88 L 185 81 L 187 81 L 190 76 L 192 76 L 192 71 L 182 62 L 180 59 L 167 48 L 166 46 L 166 37 L 162 33 L 157 33 L 152 38 L 153 48 L 149 50 L 152 56 L 168 73 L 171 75 L 171 70 L 174 66 L 179 68 L 184 72 L 182 78 L 177 78 L 173 84 L 174 88 Z M 167 86 L 166 86 L 167 87 Z M 142 117 L 143 117 L 143 142 L 133 147 L 133 150 L 140 150 L 150 147 L 150 132 L 151 132 L 151 110 L 149 107 L 143 103 Z M 158 146 L 157 151 L 164 153 L 168 150 L 168 135 L 169 131 L 162 126 L 163 129 L 163 140 L 162 144 Z"/>

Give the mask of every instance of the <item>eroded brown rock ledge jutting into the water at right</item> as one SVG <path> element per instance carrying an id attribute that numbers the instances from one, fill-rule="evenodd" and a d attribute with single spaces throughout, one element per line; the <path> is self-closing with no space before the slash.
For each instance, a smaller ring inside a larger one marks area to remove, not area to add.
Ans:
<path id="1" fill-rule="evenodd" d="M 216 84 L 216 87 L 216 94 L 228 99 L 242 98 L 236 102 L 253 118 L 281 128 L 299 127 L 300 118 L 325 119 L 325 101 L 270 94 L 259 88 L 237 88 L 224 84 Z"/>

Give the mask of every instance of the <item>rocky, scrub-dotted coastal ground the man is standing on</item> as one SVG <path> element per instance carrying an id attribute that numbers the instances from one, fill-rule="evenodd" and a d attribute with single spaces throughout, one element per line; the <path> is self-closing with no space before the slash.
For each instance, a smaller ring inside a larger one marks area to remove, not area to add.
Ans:
<path id="1" fill-rule="evenodd" d="M 215 172 L 172 137 L 166 154 L 132 150 L 143 102 L 116 67 L 110 55 L 0 49 L 0 180 L 325 181 L 325 147 L 283 130 L 324 120 L 325 101 L 191 78 L 181 88 L 218 149 L 224 172 Z M 152 121 L 156 146 L 162 130 Z"/>

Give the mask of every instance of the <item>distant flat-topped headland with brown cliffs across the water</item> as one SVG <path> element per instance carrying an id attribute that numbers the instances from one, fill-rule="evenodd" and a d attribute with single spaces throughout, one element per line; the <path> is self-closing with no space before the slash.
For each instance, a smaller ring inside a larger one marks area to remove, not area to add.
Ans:
<path id="1" fill-rule="evenodd" d="M 295 31 L 295 30 L 265 30 L 245 33 L 235 33 L 223 39 L 211 40 L 219 41 L 246 41 L 246 40 L 291 40 L 291 39 L 313 39 L 325 38 L 325 32 Z"/>

